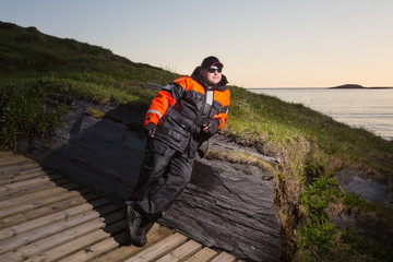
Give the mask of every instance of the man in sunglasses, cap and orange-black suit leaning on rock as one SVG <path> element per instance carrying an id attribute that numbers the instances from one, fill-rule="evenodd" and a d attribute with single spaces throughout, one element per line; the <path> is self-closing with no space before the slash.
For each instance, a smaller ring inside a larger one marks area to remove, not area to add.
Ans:
<path id="1" fill-rule="evenodd" d="M 163 87 L 146 112 L 146 151 L 136 189 L 127 204 L 127 226 L 134 246 L 190 181 L 195 152 L 228 119 L 230 93 L 224 66 L 207 57 L 191 76 Z"/>

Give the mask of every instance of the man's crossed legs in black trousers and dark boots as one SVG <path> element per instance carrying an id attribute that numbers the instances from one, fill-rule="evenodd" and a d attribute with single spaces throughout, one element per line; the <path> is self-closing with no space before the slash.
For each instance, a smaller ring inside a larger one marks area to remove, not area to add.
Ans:
<path id="1" fill-rule="evenodd" d="M 145 158 L 141 172 L 143 182 L 139 183 L 129 201 L 128 217 L 136 214 L 135 223 L 128 223 L 131 241 L 135 246 L 146 243 L 146 234 L 154 222 L 176 201 L 191 178 L 193 158 L 170 147 L 159 153 L 154 152 Z"/>

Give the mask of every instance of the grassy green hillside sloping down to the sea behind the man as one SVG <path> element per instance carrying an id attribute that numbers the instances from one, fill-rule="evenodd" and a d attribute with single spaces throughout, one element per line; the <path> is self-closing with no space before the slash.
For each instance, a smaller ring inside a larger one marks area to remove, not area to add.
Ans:
<path id="1" fill-rule="evenodd" d="M 52 132 L 74 97 L 127 104 L 144 112 L 156 91 L 143 84 L 165 85 L 177 76 L 102 47 L 0 22 L 0 145 L 12 150 L 22 138 Z M 350 167 L 393 180 L 393 142 L 300 104 L 238 86 L 230 91 L 229 120 L 222 133 L 283 160 L 277 187 L 285 204 L 279 201 L 278 207 L 284 239 L 295 241 L 301 254 L 295 260 L 388 261 L 393 254 L 383 245 L 360 236 L 345 242 L 347 235 L 329 222 L 327 214 L 330 204 L 340 202 L 393 225 L 391 210 L 341 192 L 334 179 L 337 170 Z M 44 108 L 43 102 L 51 108 Z M 306 217 L 301 222 L 299 213 Z M 359 239 L 370 249 L 365 251 Z"/>

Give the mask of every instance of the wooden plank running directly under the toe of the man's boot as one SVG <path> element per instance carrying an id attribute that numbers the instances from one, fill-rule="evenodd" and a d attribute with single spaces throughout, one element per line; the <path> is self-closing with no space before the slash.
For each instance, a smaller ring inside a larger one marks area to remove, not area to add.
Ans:
<path id="1" fill-rule="evenodd" d="M 139 248 L 135 246 L 123 246 L 100 258 L 97 258 L 95 262 L 123 262 L 135 253 L 141 252 L 144 248 L 150 247 L 154 242 L 159 241 L 169 235 L 171 235 L 170 229 L 162 227 L 158 224 L 154 224 L 152 229 L 147 233 L 147 243 L 145 247 Z"/>

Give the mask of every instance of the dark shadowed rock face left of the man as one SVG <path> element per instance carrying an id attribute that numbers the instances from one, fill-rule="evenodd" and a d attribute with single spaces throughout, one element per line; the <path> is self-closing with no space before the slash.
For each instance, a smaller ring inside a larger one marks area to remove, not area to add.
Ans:
<path id="1" fill-rule="evenodd" d="M 143 121 L 142 116 L 126 106 L 104 108 L 83 100 L 74 100 L 71 108 L 49 142 L 35 139 L 25 155 L 115 202 L 123 202 L 135 186 L 144 154 L 143 133 L 130 130 Z M 109 118 L 90 117 L 90 108 L 107 110 Z"/>

